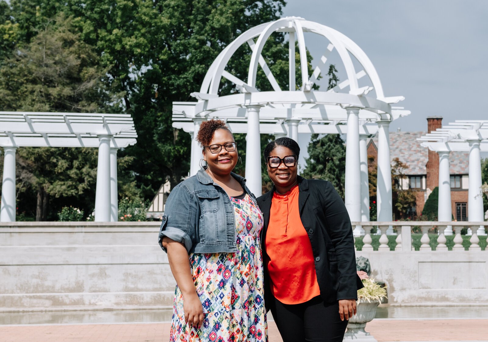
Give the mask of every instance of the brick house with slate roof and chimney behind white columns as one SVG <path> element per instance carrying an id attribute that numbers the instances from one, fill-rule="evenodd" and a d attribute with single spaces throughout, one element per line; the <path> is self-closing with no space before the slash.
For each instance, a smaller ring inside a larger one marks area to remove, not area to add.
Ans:
<path id="1" fill-rule="evenodd" d="M 442 126 L 441 116 L 427 117 L 427 132 Z M 407 164 L 402 173 L 405 178 L 396 187 L 415 191 L 417 215 L 422 213 L 428 196 L 439 185 L 439 155 L 429 151 L 417 141 L 427 132 L 391 132 L 390 159 L 398 158 Z M 367 144 L 368 159 L 372 158 L 370 169 L 374 168 L 378 158 L 378 137 L 373 136 Z M 449 173 L 451 186 L 452 215 L 457 221 L 468 220 L 468 152 L 450 152 Z M 395 190 L 393 190 L 395 191 Z M 395 208 L 393 208 L 395 210 Z M 395 216 L 395 213 L 393 213 Z"/>

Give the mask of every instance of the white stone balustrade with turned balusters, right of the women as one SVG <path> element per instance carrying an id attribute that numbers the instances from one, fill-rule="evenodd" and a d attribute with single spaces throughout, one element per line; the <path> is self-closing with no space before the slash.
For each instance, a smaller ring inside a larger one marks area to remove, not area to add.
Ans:
<path id="1" fill-rule="evenodd" d="M 390 251 L 390 247 L 388 246 L 388 237 L 386 235 L 386 230 L 390 227 L 397 228 L 397 238 L 395 240 L 396 246 L 394 248 L 395 251 L 412 251 L 414 248 L 412 247 L 412 227 L 419 226 L 422 230 L 422 237 L 420 242 L 422 245 L 420 246 L 420 251 L 432 251 L 432 250 L 444 250 L 447 251 L 446 246 L 446 236 L 444 234 L 445 229 L 447 226 L 452 227 L 453 235 L 454 235 L 454 246 L 452 247 L 453 251 L 464 251 L 465 248 L 463 246 L 463 238 L 461 236 L 461 229 L 468 227 L 472 230 L 471 238 L 469 242 L 471 245 L 469 246 L 468 250 L 481 250 L 479 245 L 480 238 L 478 237 L 477 230 L 480 227 L 484 227 L 488 225 L 488 222 L 439 222 L 439 221 L 393 221 L 393 222 L 352 222 L 352 226 L 360 226 L 365 230 L 365 235 L 363 237 L 364 246 L 362 250 L 364 251 L 372 251 L 373 246 L 371 245 L 371 229 L 374 226 L 377 226 L 378 229 L 381 231 L 380 236 L 380 246 L 378 247 L 378 251 Z M 438 230 L 438 238 L 437 238 L 437 247 L 430 247 L 429 242 L 430 239 L 428 237 L 428 230 L 430 228 L 437 228 Z M 482 235 L 484 239 L 486 235 Z M 488 242 L 488 238 L 487 238 Z M 486 248 L 485 250 L 488 250 Z"/>

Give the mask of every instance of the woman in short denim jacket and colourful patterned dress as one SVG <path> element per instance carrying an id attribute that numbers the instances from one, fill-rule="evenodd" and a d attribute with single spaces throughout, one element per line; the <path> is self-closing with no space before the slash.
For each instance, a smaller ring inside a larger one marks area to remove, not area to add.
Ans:
<path id="1" fill-rule="evenodd" d="M 170 341 L 267 341 L 263 216 L 222 120 L 197 140 L 207 166 L 170 193 L 159 233 L 176 279 Z"/>

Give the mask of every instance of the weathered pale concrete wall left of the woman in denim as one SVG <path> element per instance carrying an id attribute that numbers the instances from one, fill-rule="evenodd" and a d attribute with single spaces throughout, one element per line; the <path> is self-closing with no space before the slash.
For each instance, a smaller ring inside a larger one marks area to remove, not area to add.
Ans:
<path id="1" fill-rule="evenodd" d="M 0 224 L 0 310 L 172 307 L 155 223 Z"/>

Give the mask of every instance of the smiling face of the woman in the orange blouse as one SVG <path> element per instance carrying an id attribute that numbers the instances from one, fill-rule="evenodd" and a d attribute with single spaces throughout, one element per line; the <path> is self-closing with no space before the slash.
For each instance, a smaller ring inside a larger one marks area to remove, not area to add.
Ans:
<path id="1" fill-rule="evenodd" d="M 269 156 L 277 156 L 280 159 L 283 159 L 285 156 L 293 154 L 295 153 L 293 153 L 287 147 L 276 146 L 273 151 L 269 153 Z M 276 190 L 280 193 L 285 193 L 295 184 L 297 184 L 298 163 L 295 163 L 295 166 L 288 167 L 282 162 L 279 167 L 270 168 L 266 161 L 266 169 L 268 171 L 269 178 L 275 185 Z"/>

